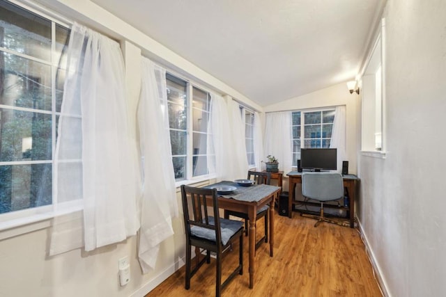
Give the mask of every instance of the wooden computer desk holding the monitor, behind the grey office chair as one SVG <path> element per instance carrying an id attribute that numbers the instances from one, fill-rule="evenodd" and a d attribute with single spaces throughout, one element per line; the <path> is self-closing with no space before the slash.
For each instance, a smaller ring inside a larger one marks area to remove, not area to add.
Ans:
<path id="1" fill-rule="evenodd" d="M 289 199 L 288 199 L 288 216 L 293 217 L 293 200 L 295 197 L 295 185 L 302 184 L 302 172 L 291 171 L 288 174 L 289 177 Z M 359 178 L 356 175 L 342 175 L 344 180 L 344 187 L 348 191 L 348 213 L 350 215 L 350 227 L 355 227 L 355 196 L 356 187 L 359 182 Z"/>

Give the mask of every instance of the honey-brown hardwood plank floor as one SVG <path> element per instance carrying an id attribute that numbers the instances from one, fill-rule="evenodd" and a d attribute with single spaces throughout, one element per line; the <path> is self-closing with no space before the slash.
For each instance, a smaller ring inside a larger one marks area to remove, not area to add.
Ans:
<path id="1" fill-rule="evenodd" d="M 248 287 L 245 237 L 243 275 L 237 275 L 222 296 L 382 296 L 359 232 L 330 223 L 313 227 L 315 222 L 297 212 L 292 219 L 276 212 L 274 257 L 269 257 L 269 243 L 257 250 L 254 289 Z M 261 236 L 263 220 L 257 223 L 257 236 Z M 223 280 L 237 261 L 238 244 L 223 259 Z M 184 268 L 146 297 L 215 296 L 215 261 L 199 269 L 189 290 L 184 287 Z"/>

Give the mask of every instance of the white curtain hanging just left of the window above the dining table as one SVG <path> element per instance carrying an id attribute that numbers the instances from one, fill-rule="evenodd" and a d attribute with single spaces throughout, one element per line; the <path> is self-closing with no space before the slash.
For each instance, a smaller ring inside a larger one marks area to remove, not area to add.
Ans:
<path id="1" fill-rule="evenodd" d="M 143 273 L 155 268 L 160 243 L 174 234 L 171 219 L 178 216 L 166 92 L 166 71 L 143 58 L 137 112 L 143 159 L 138 257 Z"/>

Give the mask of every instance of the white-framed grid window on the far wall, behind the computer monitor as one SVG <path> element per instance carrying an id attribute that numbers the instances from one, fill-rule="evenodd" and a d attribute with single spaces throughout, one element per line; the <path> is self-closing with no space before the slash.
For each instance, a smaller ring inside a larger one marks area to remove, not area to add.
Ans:
<path id="1" fill-rule="evenodd" d="M 301 147 L 330 147 L 334 113 L 334 109 L 291 113 L 294 167 L 298 166 Z"/>

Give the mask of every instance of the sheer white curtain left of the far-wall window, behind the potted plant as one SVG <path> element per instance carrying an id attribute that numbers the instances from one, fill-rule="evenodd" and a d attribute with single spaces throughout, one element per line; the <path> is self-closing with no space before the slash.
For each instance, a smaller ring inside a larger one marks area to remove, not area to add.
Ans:
<path id="1" fill-rule="evenodd" d="M 266 113 L 264 153 L 271 154 L 279 160 L 279 170 L 291 171 L 291 112 L 282 111 Z M 263 157 L 266 160 L 266 156 Z"/>

